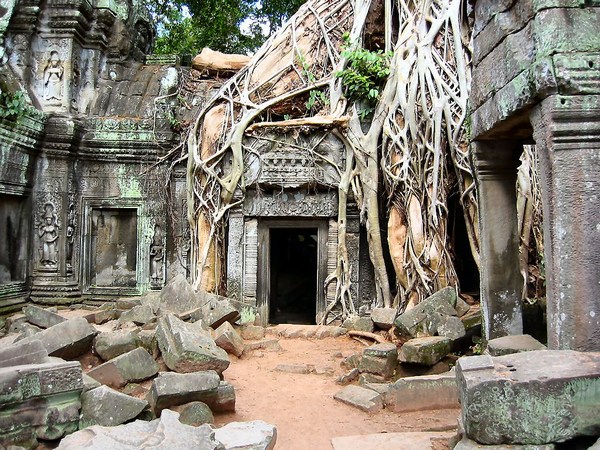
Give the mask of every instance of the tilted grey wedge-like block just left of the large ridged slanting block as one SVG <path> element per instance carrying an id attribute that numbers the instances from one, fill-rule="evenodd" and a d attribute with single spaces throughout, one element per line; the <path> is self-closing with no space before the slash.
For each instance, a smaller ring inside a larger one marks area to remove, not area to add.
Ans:
<path id="1" fill-rule="evenodd" d="M 158 373 L 158 364 L 143 348 L 113 358 L 88 372 L 88 375 L 102 384 L 123 387 L 153 377 Z"/>

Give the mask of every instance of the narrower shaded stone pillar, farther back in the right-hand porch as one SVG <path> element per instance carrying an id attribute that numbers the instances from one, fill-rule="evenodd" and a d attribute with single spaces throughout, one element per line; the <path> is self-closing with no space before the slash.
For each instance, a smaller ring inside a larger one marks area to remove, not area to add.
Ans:
<path id="1" fill-rule="evenodd" d="M 481 233 L 483 337 L 489 340 L 523 332 L 515 187 L 522 145 L 476 141 L 473 146 Z"/>

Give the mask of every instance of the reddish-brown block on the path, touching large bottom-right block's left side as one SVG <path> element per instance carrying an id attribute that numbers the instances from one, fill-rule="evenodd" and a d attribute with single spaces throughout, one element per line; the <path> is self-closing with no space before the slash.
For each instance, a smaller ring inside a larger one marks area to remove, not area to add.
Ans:
<path id="1" fill-rule="evenodd" d="M 453 372 L 407 377 L 390 384 L 383 401 L 394 412 L 458 408 L 458 387 Z"/>

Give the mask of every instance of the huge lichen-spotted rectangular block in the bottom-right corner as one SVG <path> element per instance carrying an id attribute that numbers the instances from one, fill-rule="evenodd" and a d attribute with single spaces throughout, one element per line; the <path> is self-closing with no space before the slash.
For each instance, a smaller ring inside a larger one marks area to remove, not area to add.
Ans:
<path id="1" fill-rule="evenodd" d="M 466 435 L 481 444 L 540 445 L 600 434 L 600 353 L 463 357 L 456 376 Z"/>

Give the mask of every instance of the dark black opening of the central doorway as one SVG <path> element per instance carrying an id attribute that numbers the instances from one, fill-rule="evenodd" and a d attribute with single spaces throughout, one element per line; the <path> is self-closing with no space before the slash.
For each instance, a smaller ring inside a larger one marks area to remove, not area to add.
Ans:
<path id="1" fill-rule="evenodd" d="M 269 322 L 314 324 L 317 228 L 270 228 Z"/>

